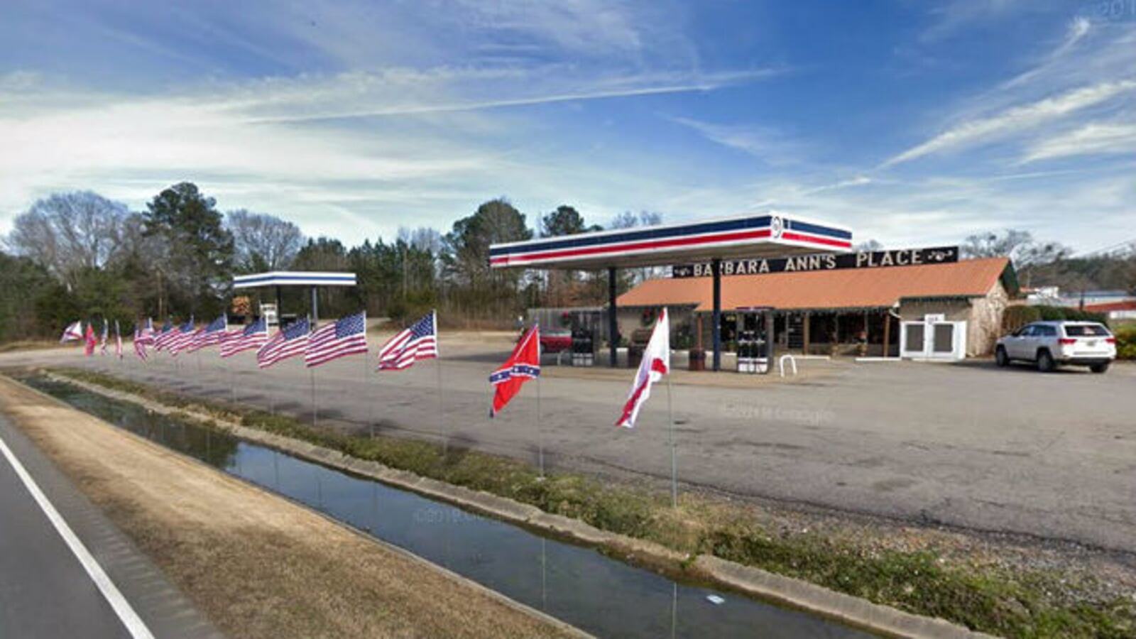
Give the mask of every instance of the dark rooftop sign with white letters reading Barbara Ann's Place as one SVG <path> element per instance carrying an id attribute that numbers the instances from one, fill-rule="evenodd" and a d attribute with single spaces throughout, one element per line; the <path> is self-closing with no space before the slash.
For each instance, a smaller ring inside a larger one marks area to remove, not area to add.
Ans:
<path id="1" fill-rule="evenodd" d="M 795 273 L 800 271 L 836 271 L 838 268 L 880 268 L 919 264 L 947 264 L 959 262 L 959 247 L 930 249 L 897 249 L 891 251 L 857 251 L 846 254 L 800 255 L 772 259 L 724 259 L 722 275 L 759 275 L 762 273 Z M 676 264 L 671 277 L 709 277 L 710 263 Z"/>

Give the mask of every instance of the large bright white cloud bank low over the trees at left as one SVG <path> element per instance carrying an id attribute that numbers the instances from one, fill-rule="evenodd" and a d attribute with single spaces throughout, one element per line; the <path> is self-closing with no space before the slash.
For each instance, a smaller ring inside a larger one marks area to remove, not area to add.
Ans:
<path id="1" fill-rule="evenodd" d="M 549 134 L 544 125 L 498 107 L 705 91 L 765 74 L 392 68 L 153 97 L 5 76 L 0 231 L 52 190 L 91 188 L 141 207 L 181 180 L 198 182 L 225 208 L 286 215 L 308 233 L 344 240 L 391 233 L 408 215 L 444 229 L 502 193 L 561 197 L 573 173 L 583 184 L 574 199 L 611 206 L 611 194 L 632 180 L 620 184 L 586 153 L 550 166 L 531 143 L 532 128 Z M 643 184 L 643 192 L 658 192 L 653 180 Z"/>

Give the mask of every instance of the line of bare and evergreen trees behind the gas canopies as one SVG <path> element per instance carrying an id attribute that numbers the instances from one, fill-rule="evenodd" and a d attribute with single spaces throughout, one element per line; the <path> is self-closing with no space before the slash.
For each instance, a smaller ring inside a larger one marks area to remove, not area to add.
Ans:
<path id="1" fill-rule="evenodd" d="M 657 214 L 626 213 L 609 229 L 658 224 Z M 506 198 L 479 205 L 442 233 L 400 229 L 392 239 L 348 247 L 309 238 L 295 224 L 244 209 L 222 213 L 191 182 L 156 194 L 144 210 L 91 191 L 51 194 L 16 217 L 0 243 L 0 341 L 53 337 L 76 318 L 208 321 L 234 313 L 233 275 L 266 271 L 351 271 L 358 285 L 319 291 L 321 316 L 365 308 L 395 320 L 429 308 L 469 325 L 502 325 L 532 306 L 599 305 L 600 273 L 537 274 L 488 267 L 491 243 L 600 230 L 570 206 L 538 216 L 535 230 Z M 627 273 L 629 288 L 644 273 Z M 275 301 L 275 291 L 239 291 Z M 302 315 L 307 291 L 283 289 L 282 309 Z"/>

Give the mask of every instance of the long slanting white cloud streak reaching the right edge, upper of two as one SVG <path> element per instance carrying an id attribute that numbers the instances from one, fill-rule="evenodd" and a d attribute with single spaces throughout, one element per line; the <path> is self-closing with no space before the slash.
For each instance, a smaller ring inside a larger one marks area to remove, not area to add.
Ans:
<path id="1" fill-rule="evenodd" d="M 1036 102 L 1016 106 L 991 117 L 958 124 L 889 158 L 882 166 L 894 166 L 932 153 L 988 143 L 1100 105 L 1133 90 L 1136 90 L 1136 80 L 1101 82 Z"/>

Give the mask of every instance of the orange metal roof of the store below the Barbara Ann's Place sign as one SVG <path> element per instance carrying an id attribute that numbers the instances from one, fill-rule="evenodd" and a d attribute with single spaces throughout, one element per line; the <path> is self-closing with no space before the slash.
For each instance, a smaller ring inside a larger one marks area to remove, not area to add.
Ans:
<path id="1" fill-rule="evenodd" d="M 989 293 L 1009 260 L 964 259 L 952 264 L 840 268 L 762 275 L 725 275 L 721 307 L 778 309 L 879 308 L 901 298 L 976 297 Z M 710 277 L 648 280 L 616 300 L 618 306 L 713 308 Z"/>

